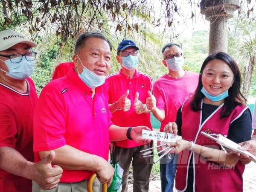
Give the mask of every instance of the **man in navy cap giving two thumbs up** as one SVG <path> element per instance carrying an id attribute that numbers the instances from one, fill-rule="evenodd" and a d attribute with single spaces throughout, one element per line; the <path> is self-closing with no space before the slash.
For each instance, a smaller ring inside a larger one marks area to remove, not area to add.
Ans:
<path id="1" fill-rule="evenodd" d="M 121 64 L 118 73 L 107 77 L 108 103 L 113 115 L 112 121 L 115 125 L 122 127 L 145 125 L 151 128 L 150 110 L 146 108 L 145 102 L 148 91 L 152 92 L 152 78 L 136 70 L 139 62 L 137 52 L 139 48 L 134 41 L 123 40 L 117 48 L 116 60 Z M 111 145 L 113 161 L 119 162 L 124 169 L 122 192 L 127 192 L 127 177 L 129 167 L 133 166 L 133 191 L 147 192 L 149 185 L 149 175 L 152 164 L 150 157 L 143 158 L 140 151 L 151 147 L 149 144 L 135 143 L 131 138 L 116 142 L 116 147 Z"/>

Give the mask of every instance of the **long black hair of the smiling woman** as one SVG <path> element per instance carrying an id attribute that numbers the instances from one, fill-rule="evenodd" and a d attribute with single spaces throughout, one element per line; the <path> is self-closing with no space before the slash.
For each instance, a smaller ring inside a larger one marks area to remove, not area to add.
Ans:
<path id="1" fill-rule="evenodd" d="M 228 97 L 224 100 L 224 106 L 221 110 L 221 118 L 229 116 L 230 113 L 234 110 L 237 105 L 246 105 L 247 100 L 242 95 L 240 88 L 241 88 L 241 74 L 239 71 L 239 67 L 236 64 L 236 61 L 227 53 L 225 52 L 217 52 L 215 54 L 209 55 L 205 60 L 201 67 L 199 80 L 198 80 L 198 87 L 195 90 L 195 94 L 192 97 L 190 102 L 190 108 L 192 111 L 198 112 L 201 110 L 201 100 L 204 98 L 203 93 L 201 93 L 201 89 L 203 87 L 202 84 L 202 73 L 204 68 L 214 59 L 219 59 L 224 61 L 232 70 L 234 74 L 233 84 L 228 89 Z"/>

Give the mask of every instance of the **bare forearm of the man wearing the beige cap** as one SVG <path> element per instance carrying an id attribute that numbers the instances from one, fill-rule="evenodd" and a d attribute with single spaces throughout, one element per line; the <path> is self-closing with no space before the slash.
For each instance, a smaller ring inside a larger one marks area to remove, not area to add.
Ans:
<path id="1" fill-rule="evenodd" d="M 0 168 L 6 172 L 32 179 L 29 171 L 34 163 L 26 160 L 15 148 L 0 147 Z"/>

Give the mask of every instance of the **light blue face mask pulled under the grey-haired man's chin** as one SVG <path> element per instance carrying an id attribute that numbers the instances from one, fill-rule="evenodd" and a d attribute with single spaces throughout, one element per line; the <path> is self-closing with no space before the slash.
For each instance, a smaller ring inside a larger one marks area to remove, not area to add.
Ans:
<path id="1" fill-rule="evenodd" d="M 79 58 L 79 56 L 78 56 L 78 58 Z M 80 58 L 79 58 L 79 60 L 80 60 Z M 80 60 L 80 62 L 83 65 L 81 60 Z M 83 67 L 84 67 L 84 65 L 83 65 Z M 86 67 L 83 68 L 83 71 L 81 74 L 78 73 L 78 76 L 90 88 L 99 87 L 103 83 L 105 83 L 105 80 L 106 80 L 106 76 L 98 76 L 97 74 L 88 70 Z"/>

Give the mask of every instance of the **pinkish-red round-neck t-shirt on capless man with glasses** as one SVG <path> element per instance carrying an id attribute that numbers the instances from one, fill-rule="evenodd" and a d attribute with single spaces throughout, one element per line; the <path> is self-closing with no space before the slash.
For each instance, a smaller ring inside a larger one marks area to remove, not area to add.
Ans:
<path id="1" fill-rule="evenodd" d="M 185 71 L 181 78 L 171 78 L 167 74 L 154 82 L 154 96 L 157 108 L 165 111 L 165 118 L 161 122 L 160 131 L 168 122 L 175 122 L 178 108 L 185 99 L 192 95 L 198 86 L 198 73 Z"/>

